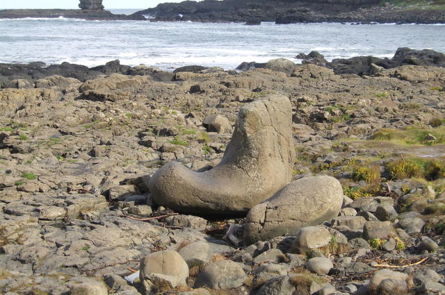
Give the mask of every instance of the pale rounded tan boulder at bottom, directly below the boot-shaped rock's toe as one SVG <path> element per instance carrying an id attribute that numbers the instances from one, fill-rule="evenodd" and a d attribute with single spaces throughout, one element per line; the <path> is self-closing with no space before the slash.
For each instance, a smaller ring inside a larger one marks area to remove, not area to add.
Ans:
<path id="1" fill-rule="evenodd" d="M 185 285 L 188 266 L 176 251 L 159 251 L 145 256 L 140 261 L 139 277 L 145 292 L 152 294 L 163 288 Z"/>

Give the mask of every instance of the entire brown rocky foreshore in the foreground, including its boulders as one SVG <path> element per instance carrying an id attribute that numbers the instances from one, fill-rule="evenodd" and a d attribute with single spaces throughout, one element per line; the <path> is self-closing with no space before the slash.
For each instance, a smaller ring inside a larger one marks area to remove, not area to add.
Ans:
<path id="1" fill-rule="evenodd" d="M 445 294 L 444 55 L 299 58 L 0 65 L 0 293 Z"/>

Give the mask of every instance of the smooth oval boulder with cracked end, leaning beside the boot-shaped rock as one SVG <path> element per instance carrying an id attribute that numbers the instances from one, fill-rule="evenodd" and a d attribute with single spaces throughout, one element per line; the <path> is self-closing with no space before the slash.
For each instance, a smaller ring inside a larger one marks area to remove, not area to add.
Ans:
<path id="1" fill-rule="evenodd" d="M 244 227 L 245 244 L 322 224 L 337 217 L 342 203 L 341 184 L 331 176 L 295 180 L 249 211 Z"/>

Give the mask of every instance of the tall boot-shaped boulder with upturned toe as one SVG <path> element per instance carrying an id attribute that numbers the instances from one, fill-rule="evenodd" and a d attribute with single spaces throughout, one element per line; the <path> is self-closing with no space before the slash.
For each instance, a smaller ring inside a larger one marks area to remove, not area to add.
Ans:
<path id="1" fill-rule="evenodd" d="M 220 164 L 195 172 L 169 162 L 149 181 L 154 201 L 178 212 L 243 214 L 291 180 L 291 103 L 272 95 L 243 106 Z"/>

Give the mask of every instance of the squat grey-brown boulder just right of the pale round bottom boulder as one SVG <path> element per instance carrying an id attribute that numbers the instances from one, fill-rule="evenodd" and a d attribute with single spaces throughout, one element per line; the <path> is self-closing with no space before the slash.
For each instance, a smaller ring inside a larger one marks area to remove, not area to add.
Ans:
<path id="1" fill-rule="evenodd" d="M 204 267 L 196 279 L 195 287 L 233 289 L 243 285 L 246 278 L 241 264 L 231 260 L 220 260 Z"/>

